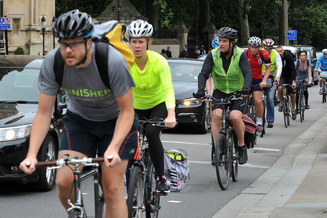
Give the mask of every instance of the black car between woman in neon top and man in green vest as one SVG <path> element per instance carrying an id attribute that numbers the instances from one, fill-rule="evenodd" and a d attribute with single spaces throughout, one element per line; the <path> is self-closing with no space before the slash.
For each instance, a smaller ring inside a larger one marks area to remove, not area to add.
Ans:
<path id="1" fill-rule="evenodd" d="M 197 59 L 168 59 L 176 99 L 176 119 L 178 125 L 193 125 L 205 134 L 211 122 L 207 102 L 193 97 L 198 90 L 198 76 L 203 61 Z"/>

